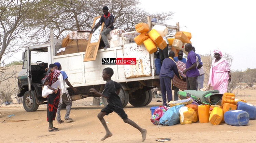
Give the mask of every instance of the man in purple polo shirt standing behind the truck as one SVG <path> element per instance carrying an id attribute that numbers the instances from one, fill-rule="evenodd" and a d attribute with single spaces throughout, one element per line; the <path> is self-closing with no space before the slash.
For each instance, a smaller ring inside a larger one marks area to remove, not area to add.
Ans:
<path id="1" fill-rule="evenodd" d="M 186 69 L 183 71 L 183 74 L 186 74 L 187 90 L 197 90 L 196 81 L 200 74 L 197 69 L 196 53 L 192 50 L 192 44 L 190 43 L 185 45 L 185 51 L 188 52 L 188 55 Z"/>

